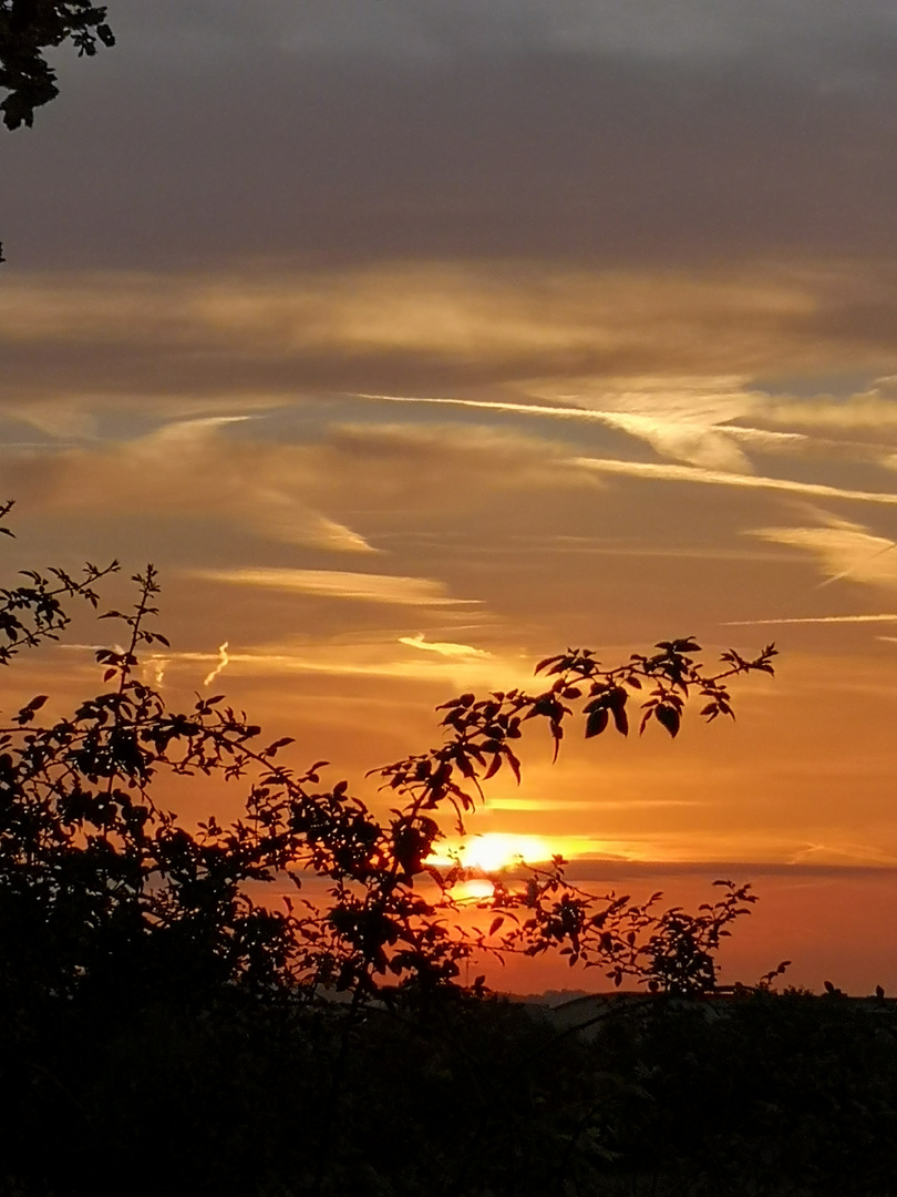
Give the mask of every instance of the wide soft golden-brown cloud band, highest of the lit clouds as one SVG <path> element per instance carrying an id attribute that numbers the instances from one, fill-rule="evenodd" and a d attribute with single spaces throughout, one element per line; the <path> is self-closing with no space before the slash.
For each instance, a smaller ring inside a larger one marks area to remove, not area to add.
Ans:
<path id="1" fill-rule="evenodd" d="M 0 340 L 60 352 L 92 342 L 106 360 L 153 352 L 178 373 L 185 357 L 215 354 L 221 381 L 227 363 L 248 354 L 325 360 L 332 379 L 353 359 L 421 354 L 499 367 L 508 381 L 567 372 L 570 360 L 616 375 L 745 375 L 818 359 L 824 340 L 805 323 L 820 286 L 812 272 L 559 271 L 532 261 L 325 274 L 19 273 L 0 299 Z M 263 373 L 255 371 L 256 387 Z"/>

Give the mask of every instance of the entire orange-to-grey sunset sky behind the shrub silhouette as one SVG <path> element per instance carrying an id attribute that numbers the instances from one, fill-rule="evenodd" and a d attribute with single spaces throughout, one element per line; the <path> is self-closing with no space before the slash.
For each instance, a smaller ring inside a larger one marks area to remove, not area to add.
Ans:
<path id="1" fill-rule="evenodd" d="M 10 570 L 153 561 L 166 697 L 362 792 L 568 645 L 775 640 L 737 722 L 536 736 L 471 830 L 645 894 L 750 880 L 732 976 L 897 988 L 893 6 L 109 20 L 0 145 Z M 19 685 L 96 685 L 74 632 Z"/>

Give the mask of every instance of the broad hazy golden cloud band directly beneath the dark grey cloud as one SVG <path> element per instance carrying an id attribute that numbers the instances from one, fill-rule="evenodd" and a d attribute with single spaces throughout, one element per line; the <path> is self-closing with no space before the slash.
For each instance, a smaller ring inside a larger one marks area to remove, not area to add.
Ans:
<path id="1" fill-rule="evenodd" d="M 606 352 L 646 342 L 682 357 L 688 334 L 806 317 L 812 287 L 757 271 L 587 272 L 526 266 L 374 267 L 328 274 L 18 275 L 0 303 L 8 342 L 206 342 L 264 352 L 338 350 L 465 360 Z M 710 347 L 710 357 L 716 359 Z"/>

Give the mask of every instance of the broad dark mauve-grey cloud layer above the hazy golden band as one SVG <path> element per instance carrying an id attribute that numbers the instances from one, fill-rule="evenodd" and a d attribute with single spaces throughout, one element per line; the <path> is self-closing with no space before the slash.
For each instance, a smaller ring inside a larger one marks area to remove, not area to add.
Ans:
<path id="1" fill-rule="evenodd" d="M 448 11 L 401 6 L 419 10 Z M 159 17 L 176 44 L 177 12 Z M 36 128 L 5 139 L 13 263 L 691 261 L 891 245 L 885 93 L 822 90 L 759 55 L 659 62 L 579 35 L 575 53 L 550 37 L 483 42 L 425 66 L 298 56 L 225 12 L 240 53 L 157 60 L 126 40 L 78 63 Z M 347 16 L 346 34 L 372 24 Z"/>

